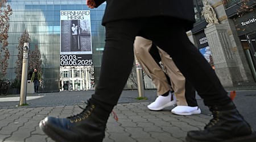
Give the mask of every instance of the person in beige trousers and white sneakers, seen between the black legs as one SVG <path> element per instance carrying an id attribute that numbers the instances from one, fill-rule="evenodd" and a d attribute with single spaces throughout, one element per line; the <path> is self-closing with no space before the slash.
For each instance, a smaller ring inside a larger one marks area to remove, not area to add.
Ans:
<path id="1" fill-rule="evenodd" d="M 201 113 L 197 105 L 195 89 L 185 80 L 185 77 L 174 64 L 170 55 L 156 47 L 151 40 L 141 36 L 135 38 L 134 54 L 144 72 L 151 78 L 158 90 L 158 97 L 147 106 L 148 109 L 158 111 L 177 104 L 171 110 L 173 114 L 193 115 Z M 160 68 L 159 61 L 166 68 L 168 78 L 166 73 Z M 171 86 L 168 79 L 171 82 Z M 174 90 L 175 96 L 170 90 Z"/>

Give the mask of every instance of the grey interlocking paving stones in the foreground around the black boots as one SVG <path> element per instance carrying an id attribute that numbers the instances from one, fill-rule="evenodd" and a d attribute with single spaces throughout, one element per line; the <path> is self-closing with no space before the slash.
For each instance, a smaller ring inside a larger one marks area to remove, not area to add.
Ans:
<path id="1" fill-rule="evenodd" d="M 118 121 L 110 115 L 104 142 L 185 141 L 190 130 L 199 130 L 207 115 L 179 116 L 170 110 L 150 111 L 149 102 L 119 103 L 114 107 Z M 52 141 L 40 130 L 39 121 L 48 115 L 67 117 L 81 112 L 77 106 L 10 108 L 0 110 L 0 141 Z"/>

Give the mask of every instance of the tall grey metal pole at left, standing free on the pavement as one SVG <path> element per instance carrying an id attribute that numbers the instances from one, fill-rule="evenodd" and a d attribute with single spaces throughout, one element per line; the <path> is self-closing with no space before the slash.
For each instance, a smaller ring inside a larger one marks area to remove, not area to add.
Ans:
<path id="1" fill-rule="evenodd" d="M 29 43 L 23 45 L 23 61 L 22 61 L 22 80 L 20 84 L 20 99 L 19 105 L 26 104 L 27 95 L 27 66 L 28 66 L 28 49 Z"/>

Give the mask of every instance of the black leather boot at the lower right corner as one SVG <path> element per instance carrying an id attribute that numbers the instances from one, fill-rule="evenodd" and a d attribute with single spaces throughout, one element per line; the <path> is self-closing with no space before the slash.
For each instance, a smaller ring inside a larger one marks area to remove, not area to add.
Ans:
<path id="1" fill-rule="evenodd" d="M 239 114 L 233 102 L 225 106 L 209 108 L 213 119 L 204 127 L 204 130 L 189 131 L 187 141 L 256 141 L 256 133 L 251 131 L 250 125 Z"/>

